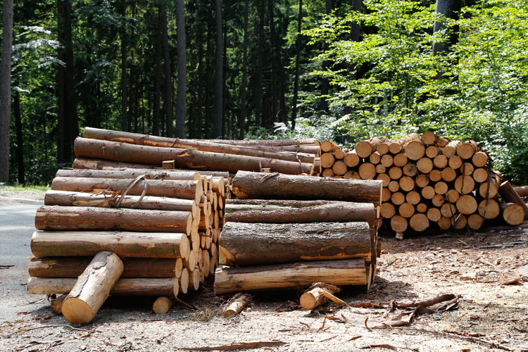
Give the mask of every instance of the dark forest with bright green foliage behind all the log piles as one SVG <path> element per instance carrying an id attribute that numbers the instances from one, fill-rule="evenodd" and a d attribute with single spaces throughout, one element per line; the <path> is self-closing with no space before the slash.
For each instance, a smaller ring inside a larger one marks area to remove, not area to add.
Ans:
<path id="1" fill-rule="evenodd" d="M 0 182 L 50 182 L 90 126 L 344 146 L 433 130 L 528 184 L 528 0 L 4 0 L 2 18 Z"/>

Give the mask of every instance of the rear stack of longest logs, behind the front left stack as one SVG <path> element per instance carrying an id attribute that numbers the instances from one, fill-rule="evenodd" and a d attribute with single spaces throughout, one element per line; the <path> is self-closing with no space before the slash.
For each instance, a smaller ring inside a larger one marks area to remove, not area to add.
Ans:
<path id="1" fill-rule="evenodd" d="M 86 127 L 75 139 L 73 168 L 172 168 L 236 173 L 270 169 L 289 175 L 319 175 L 317 139 L 173 139 Z"/>

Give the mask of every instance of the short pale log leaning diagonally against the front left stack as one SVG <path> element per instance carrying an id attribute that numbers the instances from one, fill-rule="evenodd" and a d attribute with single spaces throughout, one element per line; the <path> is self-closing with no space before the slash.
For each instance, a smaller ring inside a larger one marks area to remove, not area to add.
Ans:
<path id="1" fill-rule="evenodd" d="M 94 320 L 122 270 L 122 262 L 115 253 L 97 253 L 63 301 L 64 318 L 75 324 L 87 324 Z"/>

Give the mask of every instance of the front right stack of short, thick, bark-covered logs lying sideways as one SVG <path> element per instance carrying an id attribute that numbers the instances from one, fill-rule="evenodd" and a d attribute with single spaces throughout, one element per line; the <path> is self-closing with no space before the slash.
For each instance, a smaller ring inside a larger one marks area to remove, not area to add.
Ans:
<path id="1" fill-rule="evenodd" d="M 382 182 L 239 171 L 225 204 L 216 294 L 370 286 Z"/>

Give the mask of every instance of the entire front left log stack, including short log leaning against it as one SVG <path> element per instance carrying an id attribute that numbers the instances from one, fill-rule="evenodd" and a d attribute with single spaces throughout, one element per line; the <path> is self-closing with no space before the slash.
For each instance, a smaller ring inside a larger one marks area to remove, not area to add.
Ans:
<path id="1" fill-rule="evenodd" d="M 153 308 L 168 310 L 217 267 L 229 173 L 208 174 L 59 170 L 35 215 L 27 291 L 69 294 L 70 322 L 91 321 L 108 294 L 164 296 Z"/>

